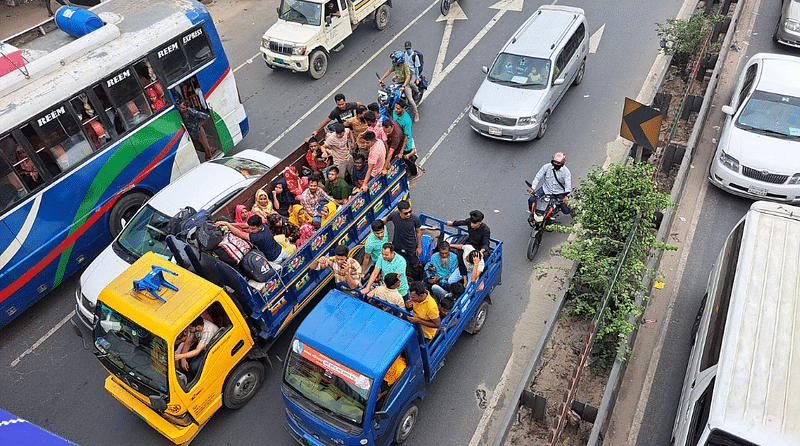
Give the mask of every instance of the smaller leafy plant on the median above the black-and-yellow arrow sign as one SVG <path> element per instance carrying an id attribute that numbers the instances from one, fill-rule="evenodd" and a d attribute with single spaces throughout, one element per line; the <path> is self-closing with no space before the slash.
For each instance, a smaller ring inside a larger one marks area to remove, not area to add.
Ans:
<path id="1" fill-rule="evenodd" d="M 667 19 L 666 24 L 656 23 L 656 33 L 663 42 L 661 51 L 672 56 L 672 65 L 678 68 L 683 80 L 689 79 L 709 29 L 723 19 L 721 15 L 705 15 L 698 10 L 688 20 Z M 719 48 L 720 43 L 709 38 L 705 53 L 717 54 Z"/>

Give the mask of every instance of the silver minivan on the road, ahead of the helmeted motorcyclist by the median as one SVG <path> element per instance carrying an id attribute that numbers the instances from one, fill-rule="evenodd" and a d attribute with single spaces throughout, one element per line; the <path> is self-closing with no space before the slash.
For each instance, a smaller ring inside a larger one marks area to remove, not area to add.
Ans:
<path id="1" fill-rule="evenodd" d="M 541 6 L 506 42 L 472 99 L 470 126 L 490 138 L 528 141 L 586 69 L 589 37 L 580 8 Z"/>

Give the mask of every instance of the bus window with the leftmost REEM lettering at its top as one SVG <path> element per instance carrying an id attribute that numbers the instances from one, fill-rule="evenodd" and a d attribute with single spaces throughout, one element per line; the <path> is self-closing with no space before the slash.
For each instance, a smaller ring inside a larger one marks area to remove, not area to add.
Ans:
<path id="1" fill-rule="evenodd" d="M 51 107 L 33 122 L 40 140 L 33 138 L 31 131 L 23 130 L 23 133 L 45 164 L 54 162 L 58 166 L 60 172 L 53 172 L 55 169 L 48 166 L 54 176 L 80 163 L 94 151 L 67 104 Z"/>

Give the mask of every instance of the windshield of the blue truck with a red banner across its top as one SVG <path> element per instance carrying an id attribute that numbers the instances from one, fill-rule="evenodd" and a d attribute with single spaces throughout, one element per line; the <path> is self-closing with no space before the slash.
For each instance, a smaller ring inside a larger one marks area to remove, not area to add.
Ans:
<path id="1" fill-rule="evenodd" d="M 373 379 L 328 358 L 298 340 L 286 360 L 284 381 L 313 404 L 349 423 L 364 423 Z"/>

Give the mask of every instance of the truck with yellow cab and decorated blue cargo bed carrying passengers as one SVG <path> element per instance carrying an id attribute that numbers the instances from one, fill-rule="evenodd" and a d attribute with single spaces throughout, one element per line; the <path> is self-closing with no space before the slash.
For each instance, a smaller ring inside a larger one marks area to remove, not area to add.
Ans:
<path id="1" fill-rule="evenodd" d="M 292 157 L 270 172 L 303 160 Z M 252 197 L 265 181 L 215 207 L 213 218 L 232 215 L 234 205 Z M 404 164 L 395 161 L 260 283 L 166 236 L 172 256 L 146 252 L 112 280 L 98 296 L 91 334 L 82 334 L 109 372 L 105 388 L 172 442 L 191 440 L 223 405 L 236 409 L 254 396 L 269 347 L 333 279 L 330 269 L 312 269 L 314 260 L 332 255 L 340 244 L 358 251 L 370 223 L 407 196 Z M 219 330 L 201 353 L 200 369 L 191 374 L 176 368 L 172 358 L 179 336 L 198 317 Z"/>

